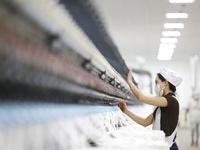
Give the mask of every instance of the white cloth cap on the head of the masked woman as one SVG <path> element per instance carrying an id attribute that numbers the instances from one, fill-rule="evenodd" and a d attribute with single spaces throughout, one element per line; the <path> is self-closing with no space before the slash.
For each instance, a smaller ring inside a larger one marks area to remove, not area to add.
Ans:
<path id="1" fill-rule="evenodd" d="M 182 82 L 182 78 L 173 70 L 162 68 L 159 72 L 168 82 L 177 87 Z"/>

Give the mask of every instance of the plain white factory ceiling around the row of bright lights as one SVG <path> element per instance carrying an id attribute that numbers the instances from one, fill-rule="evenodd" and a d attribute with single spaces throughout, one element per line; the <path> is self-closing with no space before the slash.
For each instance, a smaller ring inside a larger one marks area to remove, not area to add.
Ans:
<path id="1" fill-rule="evenodd" d="M 107 31 L 125 61 L 135 56 L 157 59 L 164 23 L 184 23 L 172 60 L 186 60 L 200 55 L 200 0 L 192 4 L 171 4 L 168 0 L 95 0 Z M 187 19 L 167 19 L 166 13 L 185 12 Z M 168 29 L 169 30 L 169 29 Z"/>

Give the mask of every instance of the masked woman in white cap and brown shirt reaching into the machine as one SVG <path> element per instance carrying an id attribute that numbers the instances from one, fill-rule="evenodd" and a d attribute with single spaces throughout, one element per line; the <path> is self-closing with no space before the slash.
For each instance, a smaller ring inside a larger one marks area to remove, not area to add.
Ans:
<path id="1" fill-rule="evenodd" d="M 158 97 L 145 96 L 132 82 L 132 70 L 129 69 L 127 83 L 136 98 L 142 103 L 157 106 L 155 111 L 147 118 L 141 118 L 130 112 L 126 103 L 120 103 L 118 106 L 121 111 L 128 115 L 136 123 L 146 127 L 153 124 L 154 130 L 162 130 L 165 133 L 165 140 L 171 150 L 178 150 L 176 145 L 176 130 L 179 118 L 179 102 L 175 92 L 176 87 L 182 82 L 181 77 L 174 71 L 163 68 L 155 78 L 155 92 Z"/>

